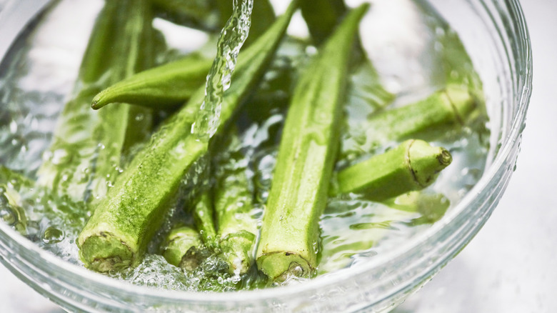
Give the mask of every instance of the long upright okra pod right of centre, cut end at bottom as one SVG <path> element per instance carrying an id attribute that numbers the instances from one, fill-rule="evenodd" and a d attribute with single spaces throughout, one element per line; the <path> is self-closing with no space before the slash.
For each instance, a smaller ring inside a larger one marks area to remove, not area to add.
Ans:
<path id="1" fill-rule="evenodd" d="M 309 277 L 338 149 L 347 65 L 364 4 L 353 9 L 300 77 L 281 137 L 256 254 L 271 281 Z"/>

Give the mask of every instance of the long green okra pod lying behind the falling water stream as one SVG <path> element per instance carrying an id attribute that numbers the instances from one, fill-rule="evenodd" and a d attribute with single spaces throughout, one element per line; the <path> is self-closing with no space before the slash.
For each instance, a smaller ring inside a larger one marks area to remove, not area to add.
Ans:
<path id="1" fill-rule="evenodd" d="M 295 10 L 293 1 L 265 34 L 240 53 L 232 76 L 234 83 L 224 93 L 216 134 L 223 131 L 261 79 Z M 86 267 L 106 272 L 139 262 L 161 226 L 182 178 L 209 149 L 208 142 L 199 141 L 190 133 L 203 100 L 201 87 L 136 154 L 106 199 L 99 203 L 77 240 Z"/>

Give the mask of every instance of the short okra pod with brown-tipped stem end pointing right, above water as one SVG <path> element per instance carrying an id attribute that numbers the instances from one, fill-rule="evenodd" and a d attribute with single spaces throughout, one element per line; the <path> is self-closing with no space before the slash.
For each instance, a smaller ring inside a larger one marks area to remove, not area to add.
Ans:
<path id="1" fill-rule="evenodd" d="M 333 193 L 355 192 L 376 201 L 396 197 L 428 187 L 451 161 L 448 150 L 409 139 L 338 172 L 338 190 Z"/>

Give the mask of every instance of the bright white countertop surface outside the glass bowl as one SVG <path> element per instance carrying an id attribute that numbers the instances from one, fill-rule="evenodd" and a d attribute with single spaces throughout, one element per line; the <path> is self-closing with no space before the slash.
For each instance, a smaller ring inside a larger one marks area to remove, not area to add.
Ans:
<path id="1" fill-rule="evenodd" d="M 522 2 L 534 75 L 516 172 L 476 238 L 395 313 L 557 312 L 557 1 Z M 0 312 L 63 311 L 0 265 Z"/>

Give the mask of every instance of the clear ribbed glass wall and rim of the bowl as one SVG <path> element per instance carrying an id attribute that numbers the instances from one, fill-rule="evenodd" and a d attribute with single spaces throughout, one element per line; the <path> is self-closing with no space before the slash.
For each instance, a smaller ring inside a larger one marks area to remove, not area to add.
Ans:
<path id="1" fill-rule="evenodd" d="M 0 223 L 0 261 L 72 312 L 388 312 L 428 282 L 481 229 L 513 173 L 531 95 L 528 30 L 518 0 L 429 1 L 455 29 L 486 91 L 491 149 L 483 177 L 441 221 L 385 254 L 303 284 L 246 292 L 174 292 L 110 279 L 39 249 Z M 0 56 L 49 1 L 9 1 Z"/>

